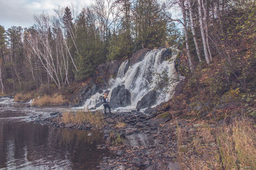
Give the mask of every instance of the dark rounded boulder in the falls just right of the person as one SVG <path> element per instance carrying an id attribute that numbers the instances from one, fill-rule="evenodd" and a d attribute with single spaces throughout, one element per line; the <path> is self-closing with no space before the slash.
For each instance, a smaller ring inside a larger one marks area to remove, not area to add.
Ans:
<path id="1" fill-rule="evenodd" d="M 111 92 L 109 101 L 111 108 L 125 107 L 131 105 L 131 92 L 124 85 L 118 85 Z"/>

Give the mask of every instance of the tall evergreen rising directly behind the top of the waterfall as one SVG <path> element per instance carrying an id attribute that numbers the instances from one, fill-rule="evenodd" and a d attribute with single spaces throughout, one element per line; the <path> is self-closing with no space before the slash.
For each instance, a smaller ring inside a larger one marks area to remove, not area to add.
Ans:
<path id="1" fill-rule="evenodd" d="M 133 10 L 136 48 L 164 46 L 166 22 L 156 0 L 136 0 Z"/>

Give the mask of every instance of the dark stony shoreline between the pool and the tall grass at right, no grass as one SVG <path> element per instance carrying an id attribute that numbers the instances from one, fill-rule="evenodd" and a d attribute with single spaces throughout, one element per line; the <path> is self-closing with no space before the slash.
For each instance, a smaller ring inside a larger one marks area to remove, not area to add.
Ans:
<path id="1" fill-rule="evenodd" d="M 106 143 L 99 149 L 108 149 L 115 157 L 104 157 L 99 169 L 180 169 L 177 162 L 177 126 L 171 118 L 157 117 L 154 110 L 145 114 L 140 111 L 116 112 L 104 116 L 106 124 L 98 129 Z M 60 123 L 62 114 L 53 112 L 50 117 L 30 117 L 36 124 L 90 131 L 97 129 L 89 123 L 76 125 Z M 124 126 L 118 126 L 122 122 Z M 91 134 L 88 134 L 90 136 Z"/>

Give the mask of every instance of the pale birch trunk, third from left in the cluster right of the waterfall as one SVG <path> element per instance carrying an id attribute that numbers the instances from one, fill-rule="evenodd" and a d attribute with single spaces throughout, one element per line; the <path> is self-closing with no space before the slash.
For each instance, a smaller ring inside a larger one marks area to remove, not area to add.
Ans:
<path id="1" fill-rule="evenodd" d="M 207 43 L 205 39 L 205 32 L 204 32 L 204 24 L 203 24 L 203 16 L 202 16 L 202 2 L 201 0 L 198 1 L 198 13 L 199 13 L 199 22 L 200 22 L 200 30 L 201 30 L 201 36 L 203 40 L 203 45 L 204 45 L 204 55 L 205 55 L 205 60 L 207 64 L 210 64 L 209 60 L 209 53 L 207 50 Z"/>

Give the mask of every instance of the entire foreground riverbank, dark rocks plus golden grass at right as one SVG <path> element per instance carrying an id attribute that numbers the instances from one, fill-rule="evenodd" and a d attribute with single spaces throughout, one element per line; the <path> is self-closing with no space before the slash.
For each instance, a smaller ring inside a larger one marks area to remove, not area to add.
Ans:
<path id="1" fill-rule="evenodd" d="M 148 114 L 120 112 L 105 115 L 100 129 L 89 122 L 64 124 L 60 122 L 62 113 L 50 115 L 31 117 L 31 122 L 104 133 L 105 143 L 97 148 L 113 155 L 103 157 L 99 169 L 221 169 L 232 167 L 237 160 L 241 162 L 237 167 L 256 166 L 255 121 L 242 115 L 215 122 L 175 114 L 170 117 L 157 110 Z"/>

